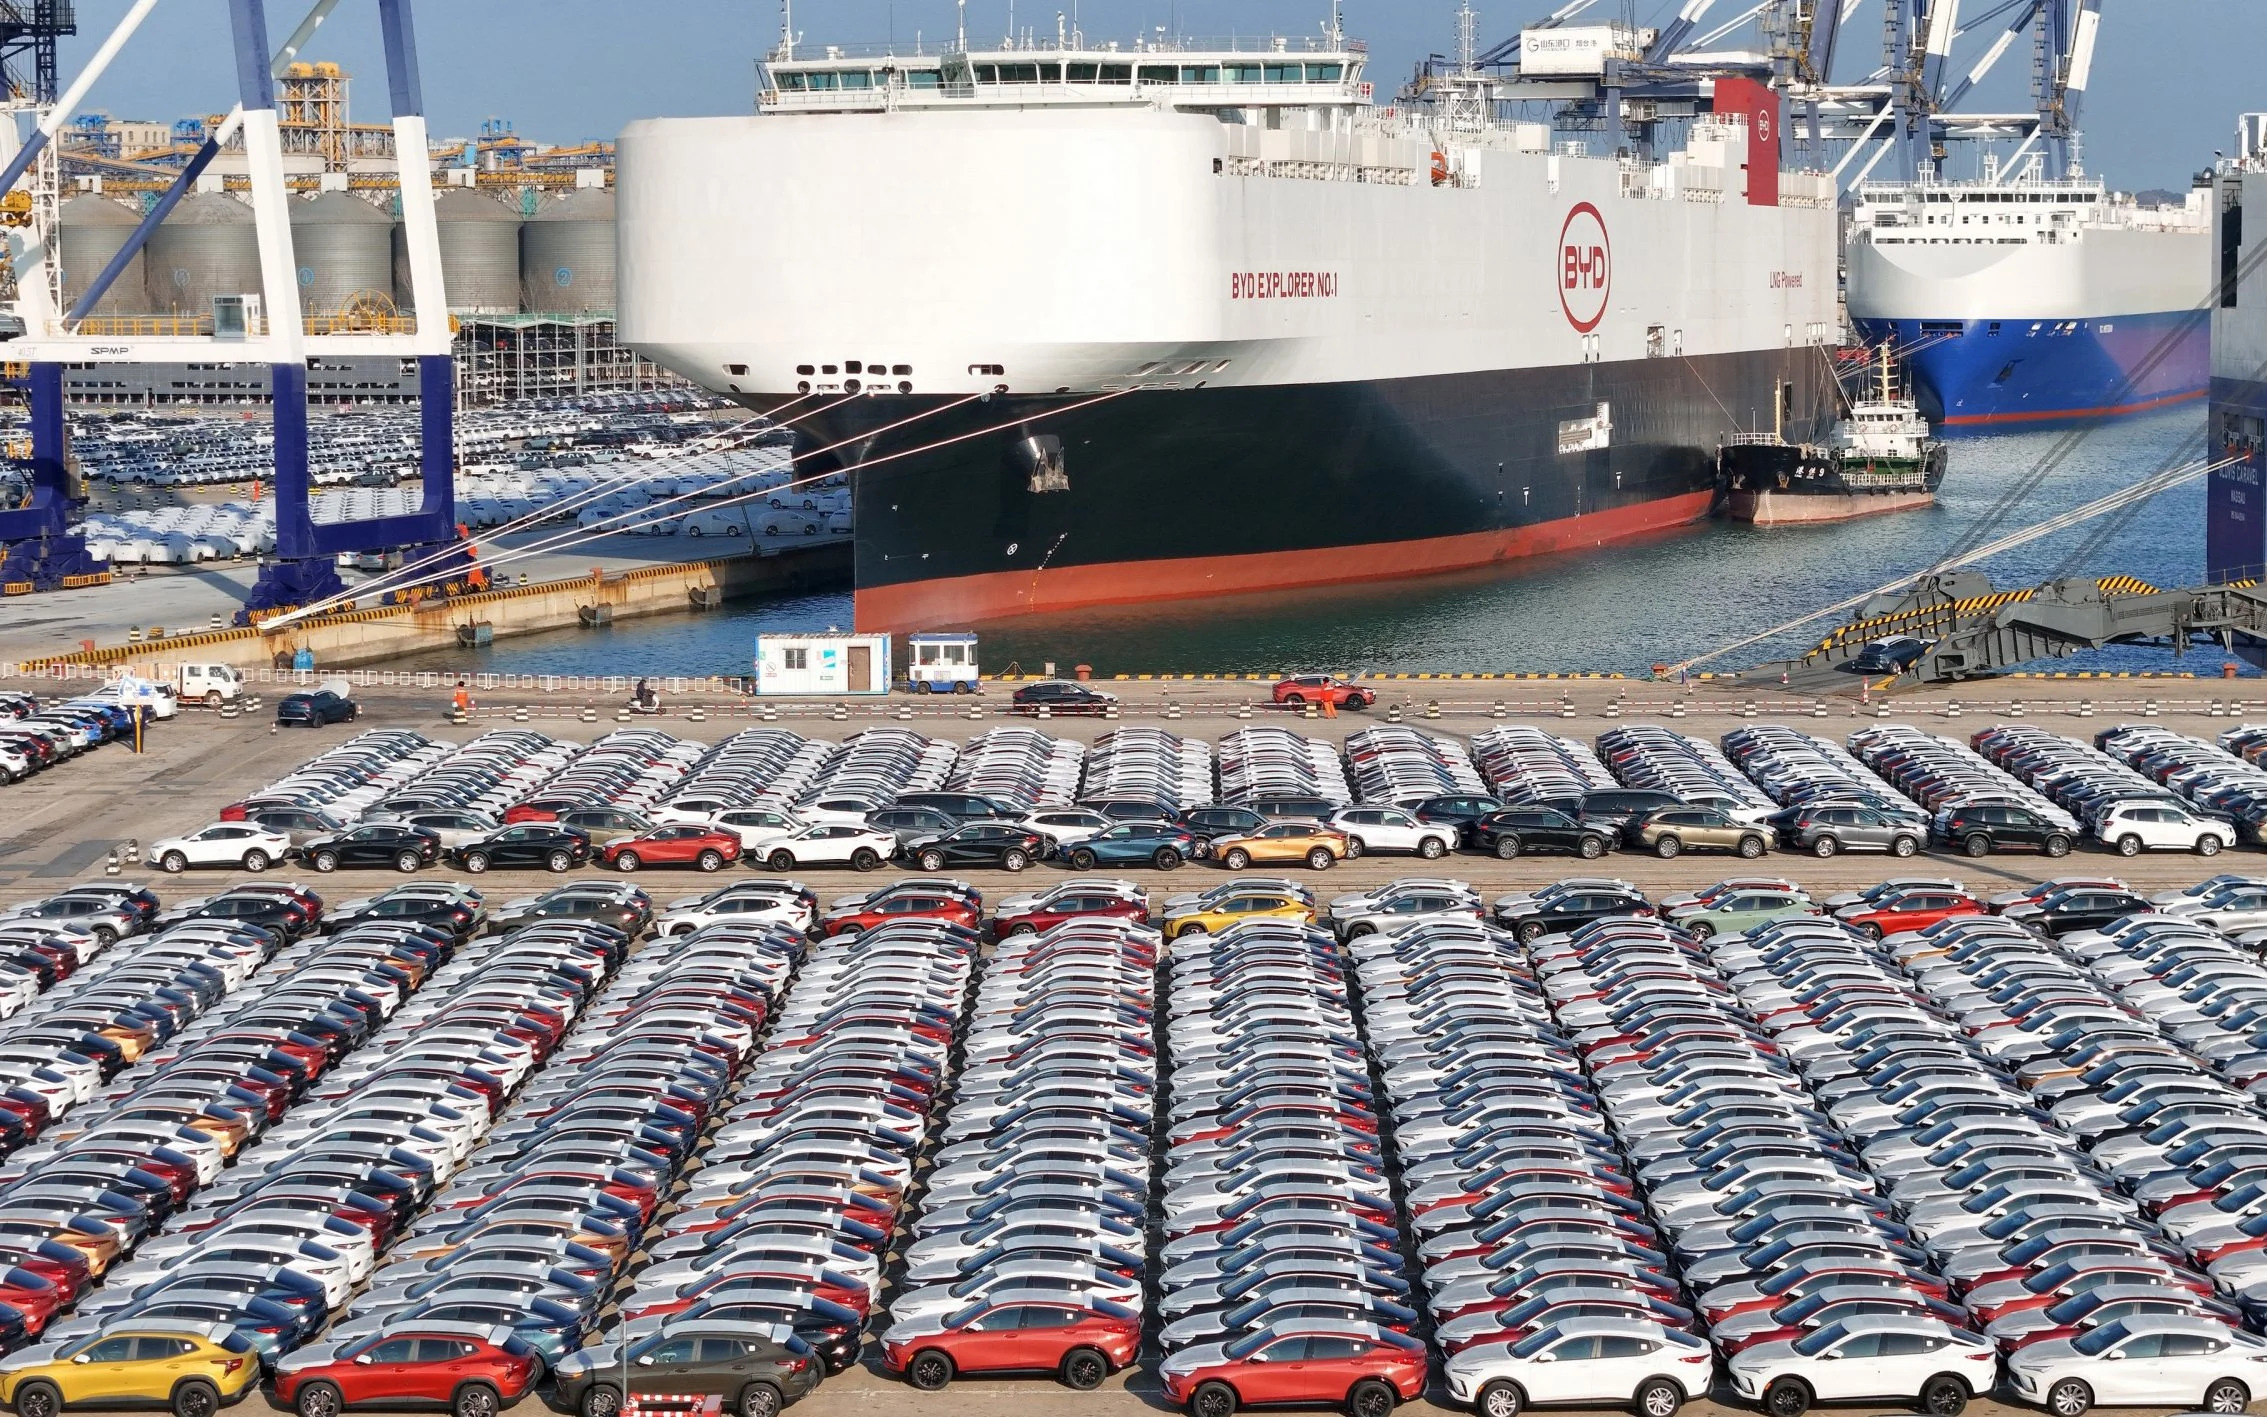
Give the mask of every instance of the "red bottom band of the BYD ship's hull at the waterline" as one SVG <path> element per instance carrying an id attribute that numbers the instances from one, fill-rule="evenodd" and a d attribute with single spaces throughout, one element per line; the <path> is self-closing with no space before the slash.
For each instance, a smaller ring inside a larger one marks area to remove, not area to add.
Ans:
<path id="1" fill-rule="evenodd" d="M 1324 546 L 1315 551 L 1258 551 L 1251 555 L 1190 555 L 1131 560 L 1047 571 L 993 571 L 857 589 L 857 628 L 868 635 L 934 630 L 1018 614 L 1134 605 L 1143 601 L 1202 601 L 1258 589 L 1301 589 L 1356 580 L 1403 580 L 1467 571 L 1528 555 L 1605 546 L 1707 515 L 1712 492 L 1689 492 L 1610 512 L 1589 512 L 1417 542 Z"/>

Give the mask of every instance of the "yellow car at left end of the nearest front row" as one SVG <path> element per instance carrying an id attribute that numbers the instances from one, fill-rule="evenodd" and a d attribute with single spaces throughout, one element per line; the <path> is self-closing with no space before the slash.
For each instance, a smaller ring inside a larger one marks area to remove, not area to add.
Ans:
<path id="1" fill-rule="evenodd" d="M 213 1417 L 261 1383 L 261 1356 L 227 1324 L 131 1322 L 0 1358 L 0 1403 L 16 1417 L 63 1408 L 168 1408 Z"/>

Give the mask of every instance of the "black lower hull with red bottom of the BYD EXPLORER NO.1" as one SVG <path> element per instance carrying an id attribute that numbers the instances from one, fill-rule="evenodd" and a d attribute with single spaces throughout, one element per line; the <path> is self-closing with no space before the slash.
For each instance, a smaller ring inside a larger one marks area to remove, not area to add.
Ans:
<path id="1" fill-rule="evenodd" d="M 843 399 L 800 472 L 850 474 L 857 623 L 1424 576 L 1682 526 L 1716 447 L 1818 435 L 1814 349 L 1365 383 Z M 748 399 L 764 406 L 759 399 Z"/>

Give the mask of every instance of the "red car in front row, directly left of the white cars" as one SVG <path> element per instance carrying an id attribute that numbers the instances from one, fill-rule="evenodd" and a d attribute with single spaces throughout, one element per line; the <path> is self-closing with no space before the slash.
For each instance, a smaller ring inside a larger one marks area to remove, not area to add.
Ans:
<path id="1" fill-rule="evenodd" d="M 1168 1401 L 1195 1417 L 1238 1408 L 1344 1408 L 1360 1417 L 1424 1397 L 1421 1342 L 1374 1324 L 1292 1322 L 1226 1344 L 1192 1344 L 1158 1363 Z"/>

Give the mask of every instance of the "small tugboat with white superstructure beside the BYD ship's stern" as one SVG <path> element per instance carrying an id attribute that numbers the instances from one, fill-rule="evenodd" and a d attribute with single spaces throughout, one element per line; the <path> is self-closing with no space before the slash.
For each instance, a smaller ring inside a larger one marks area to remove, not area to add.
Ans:
<path id="1" fill-rule="evenodd" d="M 1829 444 L 1786 442 L 1782 422 L 1716 449 L 1723 510 L 1737 521 L 1786 526 L 1931 506 L 1945 481 L 1945 442 L 1897 385 L 1888 345 L 1879 349 L 1868 394 L 1850 404 Z"/>

